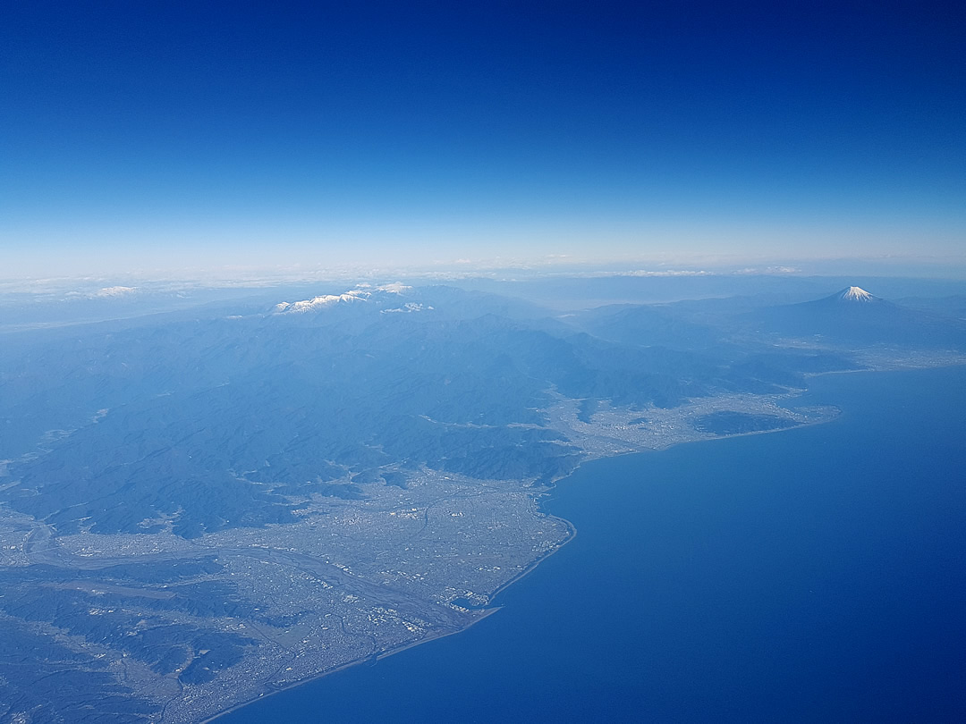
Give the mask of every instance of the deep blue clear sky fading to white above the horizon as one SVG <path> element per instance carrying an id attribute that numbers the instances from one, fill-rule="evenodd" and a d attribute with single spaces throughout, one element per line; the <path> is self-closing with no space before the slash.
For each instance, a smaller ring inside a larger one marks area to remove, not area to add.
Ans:
<path id="1" fill-rule="evenodd" d="M 250 5 L 10 4 L 0 277 L 966 265 L 959 4 Z"/>

